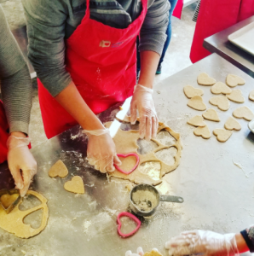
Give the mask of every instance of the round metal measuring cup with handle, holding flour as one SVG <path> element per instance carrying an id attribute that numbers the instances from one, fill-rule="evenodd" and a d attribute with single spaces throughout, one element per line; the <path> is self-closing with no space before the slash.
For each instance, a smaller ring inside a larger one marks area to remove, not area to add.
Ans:
<path id="1" fill-rule="evenodd" d="M 140 201 L 134 201 L 134 196 L 136 192 L 139 192 L 139 195 L 142 193 L 144 195 L 141 195 Z M 150 194 L 150 196 L 147 196 L 147 198 L 144 198 L 145 193 L 147 195 Z M 156 208 L 159 206 L 160 201 L 170 201 L 170 202 L 177 202 L 182 203 L 183 198 L 180 196 L 175 195 L 160 195 L 159 191 L 155 189 L 153 186 L 148 184 L 139 184 L 135 186 L 130 191 L 130 208 L 133 212 L 135 212 L 139 216 L 151 216 L 155 212 Z M 145 205 L 144 210 L 142 210 L 142 205 Z M 141 205 L 141 206 L 140 206 Z"/>

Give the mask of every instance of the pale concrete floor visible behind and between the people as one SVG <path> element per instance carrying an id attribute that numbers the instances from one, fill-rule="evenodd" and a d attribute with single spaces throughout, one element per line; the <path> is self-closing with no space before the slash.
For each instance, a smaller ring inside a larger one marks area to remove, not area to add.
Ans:
<path id="1" fill-rule="evenodd" d="M 26 20 L 20 0 L 9 0 L 1 5 L 3 6 L 11 30 L 25 26 Z M 192 21 L 195 7 L 196 3 L 185 7 L 182 11 L 182 20 L 172 17 L 172 38 L 162 65 L 162 73 L 156 75 L 154 79 L 155 90 L 156 84 L 159 84 L 160 81 L 192 64 L 189 60 L 189 52 L 195 28 L 195 22 Z M 169 86 L 172 85 L 169 84 Z M 43 131 L 36 79 L 33 79 L 30 137 L 32 138 L 32 147 L 47 141 L 47 137 Z"/>

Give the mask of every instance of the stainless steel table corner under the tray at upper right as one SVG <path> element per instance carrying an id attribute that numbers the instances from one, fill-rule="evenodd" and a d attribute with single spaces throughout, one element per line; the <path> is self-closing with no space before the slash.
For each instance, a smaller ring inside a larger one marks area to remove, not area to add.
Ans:
<path id="1" fill-rule="evenodd" d="M 204 47 L 212 53 L 221 55 L 227 61 L 239 67 L 242 71 L 254 78 L 254 56 L 245 52 L 245 50 L 231 44 L 228 41 L 228 35 L 236 32 L 243 26 L 246 26 L 254 21 L 254 16 L 243 20 L 234 26 L 230 26 L 222 32 L 217 32 L 209 38 L 205 38 Z"/>

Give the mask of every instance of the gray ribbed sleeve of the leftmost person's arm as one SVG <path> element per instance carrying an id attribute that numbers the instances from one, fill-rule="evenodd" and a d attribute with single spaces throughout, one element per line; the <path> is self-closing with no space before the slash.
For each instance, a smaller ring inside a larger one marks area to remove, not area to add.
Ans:
<path id="1" fill-rule="evenodd" d="M 28 134 L 32 108 L 32 82 L 26 61 L 9 30 L 0 6 L 0 81 L 9 131 Z"/>

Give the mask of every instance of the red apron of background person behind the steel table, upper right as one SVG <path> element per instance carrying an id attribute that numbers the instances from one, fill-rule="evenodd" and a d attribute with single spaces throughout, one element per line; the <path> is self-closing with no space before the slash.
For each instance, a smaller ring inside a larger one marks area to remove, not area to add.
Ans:
<path id="1" fill-rule="evenodd" d="M 190 59 L 200 61 L 211 52 L 203 47 L 205 38 L 254 15 L 254 0 L 202 0 L 193 36 Z"/>

